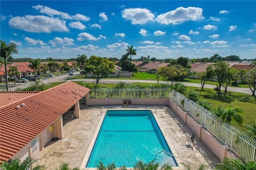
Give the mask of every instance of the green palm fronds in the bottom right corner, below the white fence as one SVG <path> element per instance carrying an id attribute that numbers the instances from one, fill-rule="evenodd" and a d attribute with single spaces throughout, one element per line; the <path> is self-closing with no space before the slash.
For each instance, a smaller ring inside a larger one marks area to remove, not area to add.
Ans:
<path id="1" fill-rule="evenodd" d="M 222 163 L 215 166 L 217 170 L 256 170 L 256 162 L 225 157 Z"/>

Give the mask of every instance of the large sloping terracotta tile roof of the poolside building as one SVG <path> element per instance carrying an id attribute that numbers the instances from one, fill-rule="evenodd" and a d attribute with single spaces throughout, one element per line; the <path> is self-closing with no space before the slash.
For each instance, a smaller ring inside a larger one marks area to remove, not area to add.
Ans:
<path id="1" fill-rule="evenodd" d="M 0 105 L 0 162 L 9 160 L 89 91 L 69 81 L 9 105 Z M 15 109 L 22 103 L 24 107 Z"/>

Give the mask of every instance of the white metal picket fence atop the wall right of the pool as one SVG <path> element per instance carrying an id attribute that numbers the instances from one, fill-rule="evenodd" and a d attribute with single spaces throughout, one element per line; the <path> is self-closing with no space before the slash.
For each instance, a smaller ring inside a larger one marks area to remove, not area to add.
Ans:
<path id="1" fill-rule="evenodd" d="M 222 144 L 230 146 L 230 150 L 238 157 L 243 157 L 247 161 L 256 161 L 256 140 L 254 138 L 228 123 L 221 123 L 216 115 L 175 90 L 171 91 L 170 98 L 199 124 L 204 125 L 204 128 Z"/>

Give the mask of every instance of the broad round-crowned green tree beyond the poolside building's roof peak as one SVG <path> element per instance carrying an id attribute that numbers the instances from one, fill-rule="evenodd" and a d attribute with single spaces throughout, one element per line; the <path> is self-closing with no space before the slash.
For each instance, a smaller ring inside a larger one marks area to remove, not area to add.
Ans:
<path id="1" fill-rule="evenodd" d="M 95 55 L 86 59 L 85 65 L 86 67 L 84 70 L 86 73 L 96 77 L 96 84 L 99 83 L 102 77 L 108 77 L 109 74 L 115 71 L 115 63 L 113 61 Z"/>

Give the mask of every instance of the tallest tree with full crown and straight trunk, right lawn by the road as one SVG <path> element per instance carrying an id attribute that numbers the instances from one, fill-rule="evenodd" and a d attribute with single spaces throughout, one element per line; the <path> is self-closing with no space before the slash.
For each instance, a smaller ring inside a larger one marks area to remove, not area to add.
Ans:
<path id="1" fill-rule="evenodd" d="M 229 69 L 229 64 L 224 63 L 223 61 L 220 61 L 218 63 L 214 63 L 212 65 L 209 65 L 206 68 L 206 73 L 208 75 L 211 75 L 211 78 L 218 80 L 218 93 L 220 94 L 220 87 L 222 83 L 224 83 L 224 79 L 226 78 L 226 72 Z"/>

